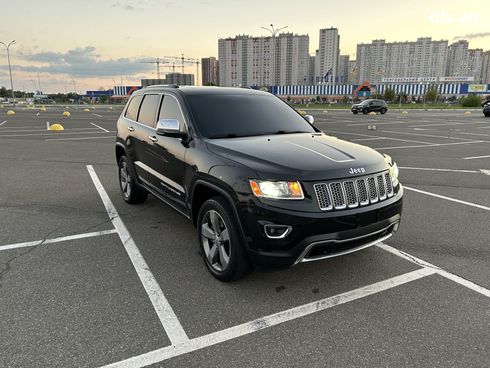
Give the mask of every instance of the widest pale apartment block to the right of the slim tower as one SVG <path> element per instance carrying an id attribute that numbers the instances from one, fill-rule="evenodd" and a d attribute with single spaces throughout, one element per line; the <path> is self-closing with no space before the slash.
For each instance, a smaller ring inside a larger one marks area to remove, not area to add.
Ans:
<path id="1" fill-rule="evenodd" d="M 448 42 L 430 37 L 415 42 L 374 40 L 357 45 L 356 82 L 379 83 L 384 78 L 443 77 L 446 74 Z"/>

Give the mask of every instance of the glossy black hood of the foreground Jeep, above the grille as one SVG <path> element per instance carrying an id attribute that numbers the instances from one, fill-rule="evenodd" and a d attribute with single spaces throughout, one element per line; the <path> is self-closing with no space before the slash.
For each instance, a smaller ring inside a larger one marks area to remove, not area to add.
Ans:
<path id="1" fill-rule="evenodd" d="M 207 145 L 261 179 L 328 180 L 387 168 L 385 157 L 375 150 L 322 133 L 210 139 Z"/>

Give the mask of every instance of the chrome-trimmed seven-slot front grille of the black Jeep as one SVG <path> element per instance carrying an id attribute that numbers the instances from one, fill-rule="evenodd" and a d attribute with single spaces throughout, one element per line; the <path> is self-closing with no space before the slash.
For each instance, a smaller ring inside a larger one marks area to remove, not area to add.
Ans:
<path id="1" fill-rule="evenodd" d="M 315 184 L 313 187 L 322 211 L 366 206 L 394 195 L 389 171 L 355 180 Z"/>

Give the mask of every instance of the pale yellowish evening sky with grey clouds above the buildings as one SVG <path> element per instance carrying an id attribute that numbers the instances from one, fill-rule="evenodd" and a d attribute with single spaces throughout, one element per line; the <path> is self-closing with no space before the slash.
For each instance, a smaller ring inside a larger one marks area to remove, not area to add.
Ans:
<path id="1" fill-rule="evenodd" d="M 370 5 L 370 4 L 375 4 Z M 464 4 L 461 6 L 461 4 Z M 266 35 L 263 26 L 308 34 L 336 27 L 342 54 L 374 39 L 467 39 L 490 50 L 488 0 L 2 0 L 0 41 L 10 48 L 14 89 L 78 93 L 156 78 L 157 57 L 218 54 L 218 39 Z M 164 68 L 163 72 L 171 69 Z M 186 67 L 195 73 L 196 67 Z M 10 88 L 0 45 L 0 86 Z"/>

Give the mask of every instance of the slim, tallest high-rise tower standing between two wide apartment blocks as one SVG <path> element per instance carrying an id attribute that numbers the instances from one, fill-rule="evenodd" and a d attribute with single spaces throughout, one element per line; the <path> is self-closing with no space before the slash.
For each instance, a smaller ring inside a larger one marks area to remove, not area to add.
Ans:
<path id="1" fill-rule="evenodd" d="M 337 28 L 320 29 L 318 50 L 320 82 L 335 83 L 340 54 L 340 36 Z"/>

